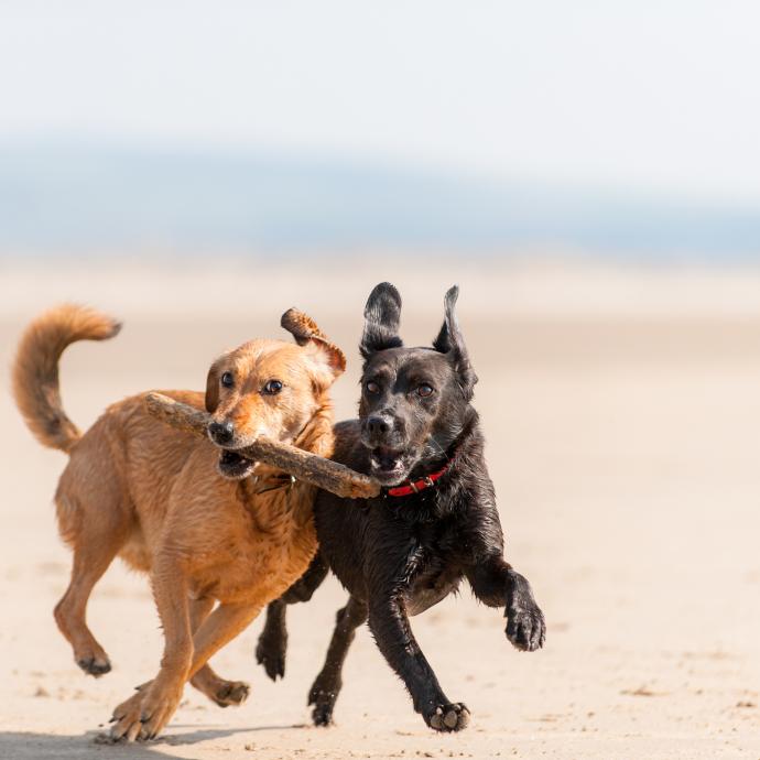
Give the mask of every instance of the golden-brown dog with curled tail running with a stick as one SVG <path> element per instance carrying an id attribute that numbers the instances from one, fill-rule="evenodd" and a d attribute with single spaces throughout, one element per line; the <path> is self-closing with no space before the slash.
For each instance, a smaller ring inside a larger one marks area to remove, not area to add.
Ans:
<path id="1" fill-rule="evenodd" d="M 265 435 L 329 456 L 328 389 L 345 357 L 294 310 L 282 326 L 297 345 L 252 340 L 214 362 L 205 399 L 192 391 L 167 395 L 205 403 L 214 416 L 209 437 L 228 448 Z M 79 433 L 61 404 L 61 354 L 119 327 L 79 306 L 43 314 L 21 339 L 13 392 L 37 439 L 69 455 L 55 502 L 74 565 L 55 619 L 86 673 L 111 667 L 85 621 L 93 587 L 117 555 L 150 573 L 165 649 L 158 676 L 113 713 L 112 737 L 132 740 L 161 731 L 187 680 L 222 706 L 246 698 L 246 684 L 221 680 L 206 663 L 304 573 L 317 541 L 312 486 L 156 422 L 143 395 L 109 406 Z"/>

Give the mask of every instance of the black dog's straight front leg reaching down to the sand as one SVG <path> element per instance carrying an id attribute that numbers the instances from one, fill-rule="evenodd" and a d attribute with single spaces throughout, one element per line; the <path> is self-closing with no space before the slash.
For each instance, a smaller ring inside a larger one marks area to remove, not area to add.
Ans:
<path id="1" fill-rule="evenodd" d="M 469 723 L 463 703 L 452 703 L 443 693 L 433 669 L 420 649 L 409 625 L 403 600 L 398 595 L 373 595 L 369 627 L 388 664 L 404 682 L 414 709 L 438 731 L 458 731 Z"/>

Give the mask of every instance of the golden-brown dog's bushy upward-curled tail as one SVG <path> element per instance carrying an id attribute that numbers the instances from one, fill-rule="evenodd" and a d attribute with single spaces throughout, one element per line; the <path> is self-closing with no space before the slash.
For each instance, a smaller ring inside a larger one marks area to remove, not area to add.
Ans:
<path id="1" fill-rule="evenodd" d="M 26 328 L 13 363 L 13 397 L 43 446 L 69 452 L 82 435 L 61 403 L 58 361 L 64 349 L 76 340 L 112 338 L 120 329 L 116 319 L 74 304 L 45 312 Z"/>

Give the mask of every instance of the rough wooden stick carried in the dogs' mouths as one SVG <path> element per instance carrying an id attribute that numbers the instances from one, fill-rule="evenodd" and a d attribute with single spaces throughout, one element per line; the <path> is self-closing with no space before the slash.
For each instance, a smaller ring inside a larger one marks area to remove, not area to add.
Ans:
<path id="1" fill-rule="evenodd" d="M 210 415 L 195 406 L 183 404 L 163 393 L 148 393 L 145 408 L 150 414 L 172 427 L 199 438 L 206 437 Z M 235 452 L 246 459 L 264 462 L 294 475 L 298 480 L 344 498 L 369 499 L 380 493 L 380 484 L 374 478 L 278 441 L 258 438 L 250 446 L 236 448 Z"/>

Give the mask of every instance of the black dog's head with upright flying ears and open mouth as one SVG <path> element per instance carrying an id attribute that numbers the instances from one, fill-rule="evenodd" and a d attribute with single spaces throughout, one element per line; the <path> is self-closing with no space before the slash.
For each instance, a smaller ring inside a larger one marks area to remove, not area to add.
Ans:
<path id="1" fill-rule="evenodd" d="M 399 337 L 401 296 L 379 284 L 365 308 L 360 350 L 361 443 L 371 474 L 387 486 L 446 459 L 471 416 L 478 381 L 467 357 L 454 306 L 458 287 L 446 293 L 444 323 L 432 348 L 404 348 Z"/>

